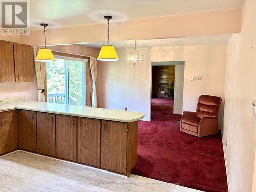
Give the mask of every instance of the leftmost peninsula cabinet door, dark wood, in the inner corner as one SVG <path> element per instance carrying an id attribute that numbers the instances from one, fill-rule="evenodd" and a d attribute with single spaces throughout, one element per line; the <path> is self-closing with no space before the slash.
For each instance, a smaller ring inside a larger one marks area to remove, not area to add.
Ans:
<path id="1" fill-rule="evenodd" d="M 36 112 L 18 110 L 19 148 L 36 152 Z"/>

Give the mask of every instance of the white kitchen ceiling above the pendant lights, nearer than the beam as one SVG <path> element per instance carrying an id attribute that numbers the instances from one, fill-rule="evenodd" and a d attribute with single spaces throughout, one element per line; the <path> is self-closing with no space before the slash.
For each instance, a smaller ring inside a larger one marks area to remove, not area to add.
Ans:
<path id="1" fill-rule="evenodd" d="M 244 0 L 30 0 L 32 29 L 41 22 L 50 28 L 91 25 L 168 15 L 242 7 Z"/>

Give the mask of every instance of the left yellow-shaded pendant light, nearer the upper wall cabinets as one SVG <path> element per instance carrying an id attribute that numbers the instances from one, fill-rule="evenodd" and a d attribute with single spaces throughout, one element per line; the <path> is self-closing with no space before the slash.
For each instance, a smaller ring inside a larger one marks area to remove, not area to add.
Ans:
<path id="1" fill-rule="evenodd" d="M 36 56 L 36 61 L 39 62 L 52 62 L 55 61 L 55 58 L 52 54 L 52 51 L 50 49 L 46 49 L 46 27 L 48 24 L 40 24 L 42 27 L 44 27 L 44 35 L 45 35 L 45 48 L 41 48 L 38 51 L 38 54 Z"/>

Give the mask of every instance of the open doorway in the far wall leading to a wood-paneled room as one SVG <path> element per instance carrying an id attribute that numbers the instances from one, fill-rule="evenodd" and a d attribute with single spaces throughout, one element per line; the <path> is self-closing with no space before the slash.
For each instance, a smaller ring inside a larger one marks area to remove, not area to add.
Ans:
<path id="1" fill-rule="evenodd" d="M 182 114 L 184 65 L 184 61 L 152 62 L 151 119 L 158 104 L 168 105 L 172 114 Z"/>

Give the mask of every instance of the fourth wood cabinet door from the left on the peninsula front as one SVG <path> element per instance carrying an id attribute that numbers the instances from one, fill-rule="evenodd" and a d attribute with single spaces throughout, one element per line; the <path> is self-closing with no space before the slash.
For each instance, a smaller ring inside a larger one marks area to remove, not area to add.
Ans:
<path id="1" fill-rule="evenodd" d="M 100 166 L 100 126 L 101 120 L 78 118 L 77 161 Z"/>

